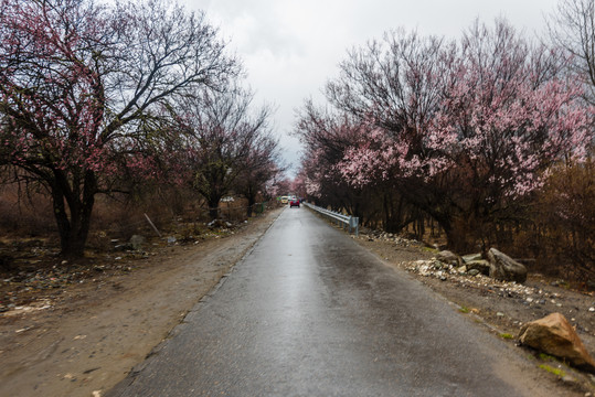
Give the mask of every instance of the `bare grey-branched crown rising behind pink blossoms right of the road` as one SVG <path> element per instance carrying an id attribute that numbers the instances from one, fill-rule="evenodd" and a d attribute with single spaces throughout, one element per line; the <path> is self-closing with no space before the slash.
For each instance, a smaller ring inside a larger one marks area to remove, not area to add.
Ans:
<path id="1" fill-rule="evenodd" d="M 340 76 L 326 86 L 336 108 L 375 119 L 395 137 L 423 130 L 436 111 L 448 81 L 456 46 L 438 36 L 403 29 L 354 49 L 340 64 Z"/>

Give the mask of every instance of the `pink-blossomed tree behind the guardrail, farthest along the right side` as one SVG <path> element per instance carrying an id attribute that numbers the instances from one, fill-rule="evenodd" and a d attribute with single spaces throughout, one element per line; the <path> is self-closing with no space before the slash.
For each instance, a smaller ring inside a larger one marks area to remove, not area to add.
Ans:
<path id="1" fill-rule="evenodd" d="M 298 133 L 306 146 L 299 180 L 308 196 L 347 210 L 364 223 L 381 218 L 389 232 L 399 232 L 415 218 L 417 213 L 389 178 L 393 158 L 391 150 L 384 151 L 390 149 L 385 136 L 373 122 L 325 112 L 308 103 Z"/>

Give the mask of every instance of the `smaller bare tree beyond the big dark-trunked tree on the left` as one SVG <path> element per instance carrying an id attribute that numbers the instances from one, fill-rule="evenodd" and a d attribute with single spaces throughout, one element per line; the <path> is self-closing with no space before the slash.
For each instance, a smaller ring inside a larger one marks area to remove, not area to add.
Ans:
<path id="1" fill-rule="evenodd" d="M 221 197 L 246 167 L 253 167 L 257 152 L 267 146 L 269 154 L 275 151 L 276 141 L 267 138 L 270 109 L 253 111 L 253 98 L 251 92 L 231 86 L 220 93 L 204 90 L 179 105 L 180 128 L 187 136 L 182 155 L 191 171 L 188 182 L 206 200 L 213 219 Z"/>

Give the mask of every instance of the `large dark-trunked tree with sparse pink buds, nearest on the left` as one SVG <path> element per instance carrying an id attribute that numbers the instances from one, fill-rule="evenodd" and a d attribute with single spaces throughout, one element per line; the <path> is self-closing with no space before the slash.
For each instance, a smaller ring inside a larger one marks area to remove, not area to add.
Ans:
<path id="1" fill-rule="evenodd" d="M 157 108 L 237 74 L 203 14 L 166 1 L 1 0 L 1 163 L 50 193 L 81 256 L 95 196 L 145 169 Z"/>

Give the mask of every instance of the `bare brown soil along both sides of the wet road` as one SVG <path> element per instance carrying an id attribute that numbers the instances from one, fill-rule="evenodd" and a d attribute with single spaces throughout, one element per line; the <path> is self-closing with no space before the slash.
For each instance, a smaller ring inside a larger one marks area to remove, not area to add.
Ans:
<path id="1" fill-rule="evenodd" d="M 67 272 L 50 264 L 43 275 L 0 283 L 0 396 L 100 397 L 168 337 L 280 211 L 200 244 L 159 247 L 137 258 L 96 259 L 91 265 L 72 265 Z M 433 256 L 415 243 L 397 244 L 366 235 L 357 240 L 400 268 Z M 524 292 L 502 292 L 501 286 L 480 278 L 448 276 L 443 281 L 410 273 L 458 305 L 460 315 L 485 324 L 495 337 L 516 336 L 521 323 L 560 311 L 574 319 L 587 350 L 595 352 L 595 313 L 588 311 L 595 305 L 593 294 L 553 287 L 551 281 L 532 276 L 527 286 L 534 289 L 533 298 L 545 298 L 540 304 L 528 302 Z M 522 348 L 518 352 L 528 354 Z M 536 358 L 535 366 L 540 364 Z M 553 389 L 552 395 L 569 395 L 570 390 L 584 396 L 595 390 L 588 375 L 559 362 L 546 364 L 570 374 L 557 382 L 556 387 L 564 393 Z M 542 376 L 556 377 L 545 372 Z"/>

